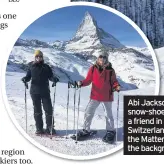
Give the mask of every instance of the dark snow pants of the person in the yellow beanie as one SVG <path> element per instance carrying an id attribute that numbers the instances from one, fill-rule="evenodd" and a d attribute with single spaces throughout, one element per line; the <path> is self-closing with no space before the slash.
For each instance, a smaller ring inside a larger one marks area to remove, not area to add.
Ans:
<path id="1" fill-rule="evenodd" d="M 52 103 L 50 94 L 31 94 L 34 106 L 34 119 L 37 129 L 43 129 L 42 104 L 46 116 L 47 127 L 52 126 Z M 42 103 L 42 104 L 41 104 Z M 53 122 L 54 124 L 54 122 Z"/>

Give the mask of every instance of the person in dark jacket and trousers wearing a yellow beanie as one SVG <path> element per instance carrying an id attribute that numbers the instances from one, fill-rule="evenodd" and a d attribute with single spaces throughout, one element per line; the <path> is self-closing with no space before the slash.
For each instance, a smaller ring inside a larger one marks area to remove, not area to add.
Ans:
<path id="1" fill-rule="evenodd" d="M 34 106 L 36 134 L 50 134 L 51 131 L 55 134 L 49 80 L 57 83 L 59 79 L 53 76 L 50 66 L 44 63 L 43 53 L 40 50 L 36 50 L 34 55 L 35 61 L 30 63 L 27 74 L 22 78 L 22 81 L 27 83 L 31 80 L 30 95 Z M 43 130 L 41 103 L 46 115 L 47 128 L 45 131 Z"/>

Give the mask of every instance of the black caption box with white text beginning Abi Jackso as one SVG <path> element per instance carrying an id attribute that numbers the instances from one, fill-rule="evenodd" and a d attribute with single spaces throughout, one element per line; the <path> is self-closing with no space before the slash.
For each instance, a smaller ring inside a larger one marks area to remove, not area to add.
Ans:
<path id="1" fill-rule="evenodd" d="M 124 154 L 164 155 L 164 96 L 124 96 Z"/>

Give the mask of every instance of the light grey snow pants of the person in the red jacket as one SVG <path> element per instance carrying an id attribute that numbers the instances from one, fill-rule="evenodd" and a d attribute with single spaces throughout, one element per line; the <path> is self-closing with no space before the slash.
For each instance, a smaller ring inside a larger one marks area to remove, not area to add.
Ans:
<path id="1" fill-rule="evenodd" d="M 85 114 L 84 114 L 84 125 L 83 125 L 83 129 L 90 131 L 90 125 L 92 122 L 92 119 L 94 117 L 95 111 L 97 109 L 97 107 L 99 106 L 99 104 L 102 103 L 103 108 L 106 112 L 106 130 L 114 130 L 114 119 L 113 119 L 113 114 L 112 114 L 112 102 L 100 102 L 100 101 L 96 101 L 91 99 Z"/>

